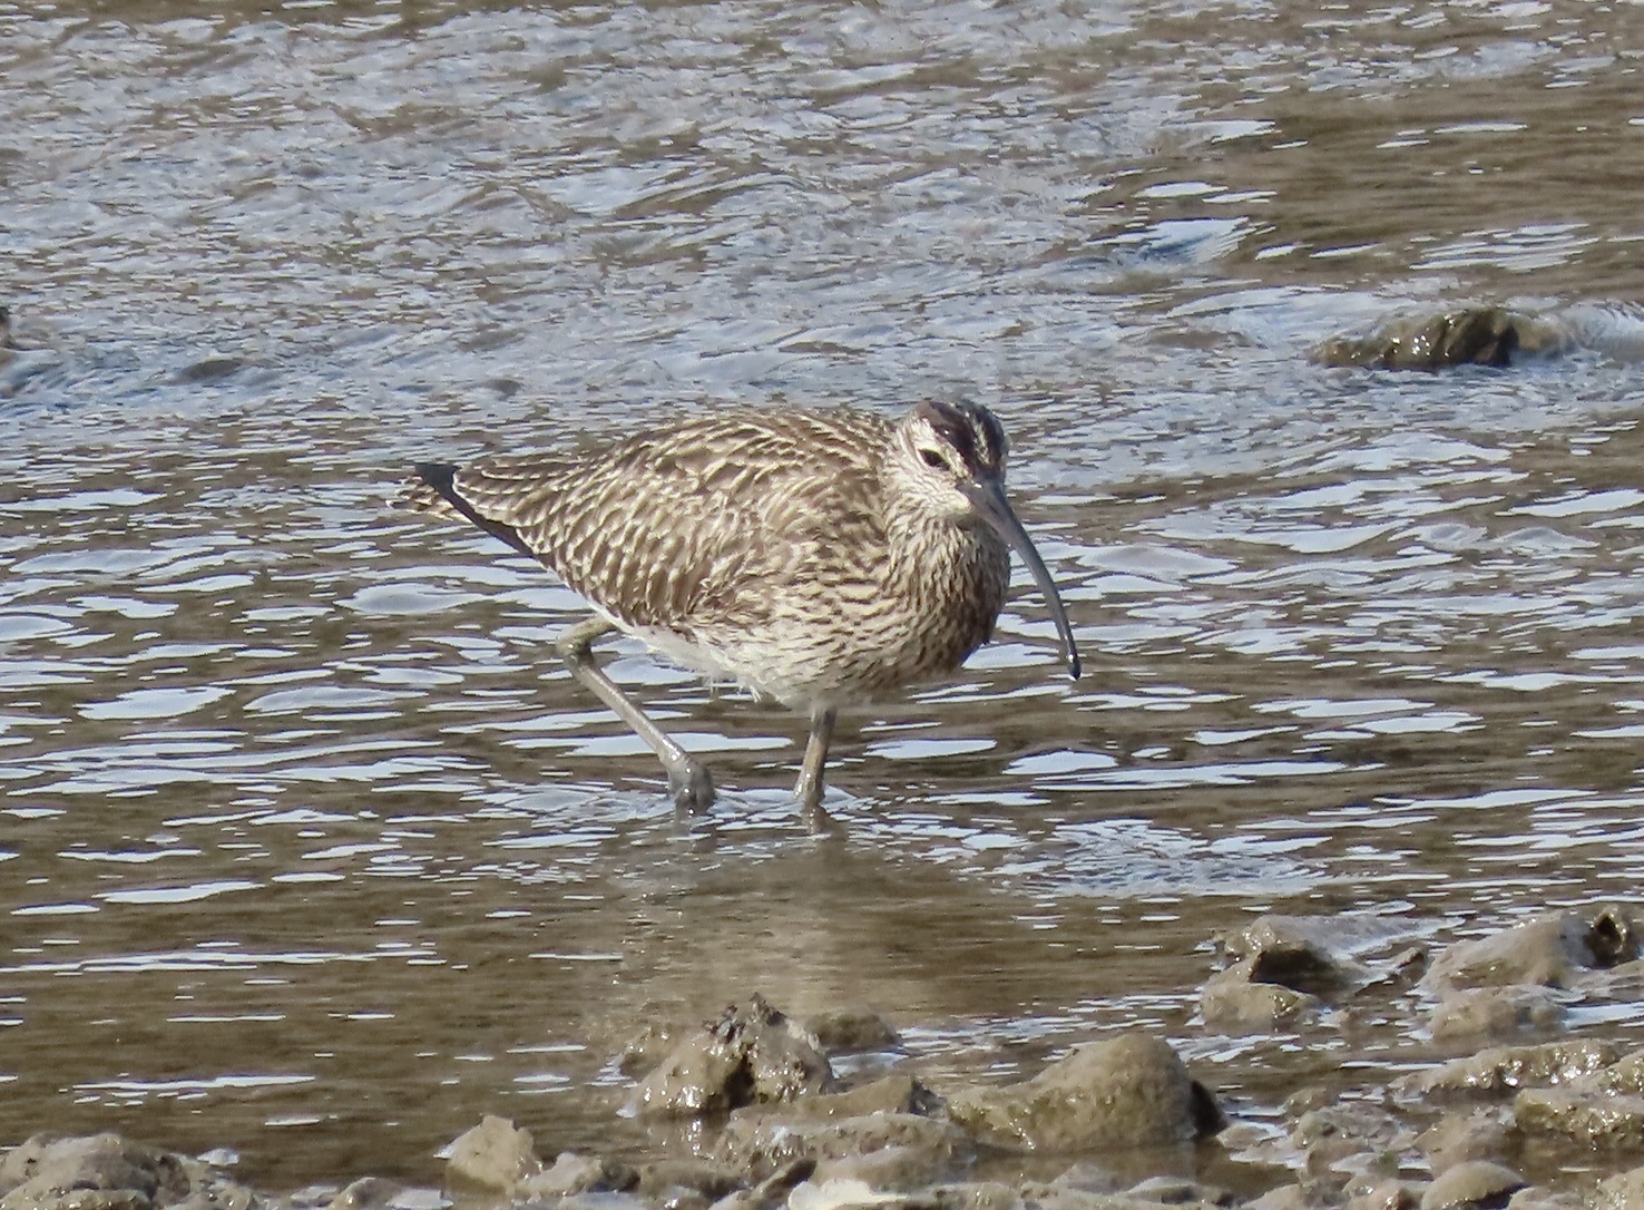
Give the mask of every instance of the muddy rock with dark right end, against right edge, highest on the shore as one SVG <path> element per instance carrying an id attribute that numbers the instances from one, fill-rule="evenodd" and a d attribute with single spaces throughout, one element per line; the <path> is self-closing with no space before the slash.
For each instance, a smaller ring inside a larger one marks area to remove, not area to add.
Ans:
<path id="1" fill-rule="evenodd" d="M 1605 908 L 1593 921 L 1577 912 L 1554 912 L 1447 947 L 1422 983 L 1438 993 L 1514 983 L 1567 988 L 1580 972 L 1636 957 L 1637 937 L 1621 909 Z"/>

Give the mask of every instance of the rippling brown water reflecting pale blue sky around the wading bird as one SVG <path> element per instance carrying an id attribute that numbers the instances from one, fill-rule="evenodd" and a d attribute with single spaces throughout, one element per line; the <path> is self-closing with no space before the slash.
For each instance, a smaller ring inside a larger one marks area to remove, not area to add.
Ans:
<path id="1" fill-rule="evenodd" d="M 0 1143 L 640 1149 L 621 1041 L 751 990 L 935 1083 L 1144 1026 L 1256 1120 L 1427 1054 L 1210 1036 L 1197 986 L 1266 909 L 1644 878 L 1641 69 L 1562 2 L 0 5 Z M 1305 358 L 1475 301 L 1573 349 Z M 575 598 L 390 503 L 929 395 L 1004 418 L 1088 672 L 1019 577 L 848 720 L 835 835 L 797 720 L 623 646 L 727 787 L 676 822 L 552 659 Z"/>

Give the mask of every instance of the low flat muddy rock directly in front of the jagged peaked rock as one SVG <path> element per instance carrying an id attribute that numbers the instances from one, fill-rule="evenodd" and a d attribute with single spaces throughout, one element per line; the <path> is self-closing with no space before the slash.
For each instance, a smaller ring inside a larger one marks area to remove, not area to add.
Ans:
<path id="1" fill-rule="evenodd" d="M 906 1148 L 903 1166 L 922 1164 L 932 1172 L 970 1159 L 975 1146 L 950 1121 L 916 1113 L 868 1113 L 858 1118 L 807 1120 L 783 1115 L 738 1115 L 718 1139 L 718 1156 L 745 1171 L 769 1172 L 796 1161 L 866 1156 L 886 1148 Z"/>

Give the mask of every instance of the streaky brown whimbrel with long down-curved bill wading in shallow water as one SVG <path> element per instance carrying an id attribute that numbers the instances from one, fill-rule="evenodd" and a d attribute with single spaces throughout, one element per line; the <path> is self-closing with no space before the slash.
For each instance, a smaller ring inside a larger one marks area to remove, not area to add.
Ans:
<path id="1" fill-rule="evenodd" d="M 1009 552 L 1032 572 L 1067 671 L 1078 651 L 1051 572 L 1004 498 L 1004 431 L 986 408 L 737 411 L 585 455 L 424 464 L 413 508 L 465 518 L 539 559 L 593 607 L 557 643 L 572 676 L 661 758 L 681 807 L 709 771 L 600 671 L 620 630 L 810 720 L 807 815 L 842 705 L 954 672 L 993 635 Z"/>

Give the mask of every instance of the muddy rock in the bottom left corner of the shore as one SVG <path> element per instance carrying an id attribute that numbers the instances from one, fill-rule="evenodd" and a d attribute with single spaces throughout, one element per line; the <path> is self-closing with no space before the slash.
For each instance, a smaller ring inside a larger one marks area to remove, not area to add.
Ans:
<path id="1" fill-rule="evenodd" d="M 0 1161 L 0 1210 L 155 1210 L 197 1198 L 201 1205 L 256 1202 L 197 1161 L 184 1161 L 120 1134 L 36 1134 Z"/>

